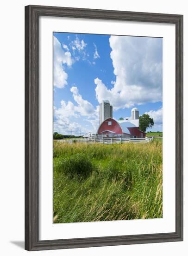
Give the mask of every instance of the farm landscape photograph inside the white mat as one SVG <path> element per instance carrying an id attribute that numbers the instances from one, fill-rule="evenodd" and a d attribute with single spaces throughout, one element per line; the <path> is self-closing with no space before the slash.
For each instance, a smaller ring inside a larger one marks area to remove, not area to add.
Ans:
<path id="1" fill-rule="evenodd" d="M 53 223 L 163 218 L 163 38 L 51 40 Z"/>

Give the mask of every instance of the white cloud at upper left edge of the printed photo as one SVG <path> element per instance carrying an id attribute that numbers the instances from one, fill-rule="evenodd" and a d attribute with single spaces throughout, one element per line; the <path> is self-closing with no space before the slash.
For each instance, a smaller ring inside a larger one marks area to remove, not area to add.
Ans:
<path id="1" fill-rule="evenodd" d="M 64 65 L 71 67 L 73 60 L 69 51 L 64 52 L 61 43 L 54 36 L 54 86 L 64 88 L 67 84 L 68 74 L 64 71 Z"/>

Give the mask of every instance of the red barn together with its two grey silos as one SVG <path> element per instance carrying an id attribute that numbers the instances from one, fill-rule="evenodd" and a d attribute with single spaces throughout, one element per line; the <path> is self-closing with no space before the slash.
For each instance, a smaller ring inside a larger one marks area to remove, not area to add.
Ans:
<path id="1" fill-rule="evenodd" d="M 118 121 L 113 119 L 113 113 L 110 108 L 112 109 L 112 106 L 110 105 L 109 101 L 103 101 L 100 104 L 100 126 L 97 131 L 98 136 L 145 138 L 146 133 L 139 130 L 138 108 L 132 108 L 130 118 L 125 118 L 125 120 Z"/>

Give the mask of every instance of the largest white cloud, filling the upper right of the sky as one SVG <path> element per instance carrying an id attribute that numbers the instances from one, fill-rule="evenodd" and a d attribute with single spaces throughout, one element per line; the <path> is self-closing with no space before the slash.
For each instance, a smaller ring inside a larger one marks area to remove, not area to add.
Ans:
<path id="1" fill-rule="evenodd" d="M 94 80 L 99 103 L 109 100 L 114 109 L 162 101 L 162 39 L 111 36 L 116 80 L 112 89 Z"/>

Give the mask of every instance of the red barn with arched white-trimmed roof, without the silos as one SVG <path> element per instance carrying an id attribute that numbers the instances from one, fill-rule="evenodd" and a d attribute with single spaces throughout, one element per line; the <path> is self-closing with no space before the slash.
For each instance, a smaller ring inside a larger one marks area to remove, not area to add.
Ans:
<path id="1" fill-rule="evenodd" d="M 139 119 L 119 120 L 107 118 L 97 131 L 103 137 L 145 138 L 146 133 L 139 130 Z"/>

